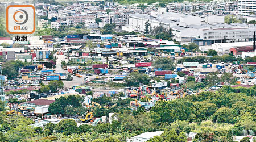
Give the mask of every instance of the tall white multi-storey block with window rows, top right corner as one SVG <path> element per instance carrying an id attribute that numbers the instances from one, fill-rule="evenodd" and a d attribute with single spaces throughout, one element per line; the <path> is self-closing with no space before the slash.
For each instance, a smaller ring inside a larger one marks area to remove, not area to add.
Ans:
<path id="1" fill-rule="evenodd" d="M 238 11 L 243 16 L 256 13 L 256 0 L 238 0 Z"/>

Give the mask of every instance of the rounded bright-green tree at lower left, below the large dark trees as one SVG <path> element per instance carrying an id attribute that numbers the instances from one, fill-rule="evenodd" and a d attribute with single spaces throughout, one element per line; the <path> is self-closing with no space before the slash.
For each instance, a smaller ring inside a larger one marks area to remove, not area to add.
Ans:
<path id="1" fill-rule="evenodd" d="M 78 133 L 78 127 L 73 119 L 63 119 L 55 127 L 56 132 L 63 132 L 65 135 Z"/>

